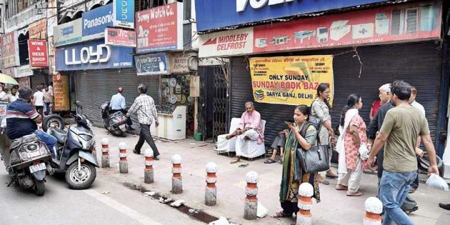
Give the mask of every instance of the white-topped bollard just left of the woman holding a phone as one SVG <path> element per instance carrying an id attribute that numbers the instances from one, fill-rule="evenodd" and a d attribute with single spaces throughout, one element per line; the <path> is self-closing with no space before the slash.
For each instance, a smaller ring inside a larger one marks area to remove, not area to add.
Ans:
<path id="1" fill-rule="evenodd" d="M 244 219 L 256 219 L 256 212 L 258 209 L 258 173 L 249 171 L 245 175 L 247 186 L 245 187 L 245 203 L 244 203 Z"/>

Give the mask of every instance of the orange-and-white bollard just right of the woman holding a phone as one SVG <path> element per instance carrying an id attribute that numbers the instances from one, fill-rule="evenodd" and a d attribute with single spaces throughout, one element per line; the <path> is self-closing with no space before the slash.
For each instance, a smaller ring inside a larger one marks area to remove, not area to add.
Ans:
<path id="1" fill-rule="evenodd" d="M 312 195 L 314 194 L 314 188 L 310 183 L 301 183 L 298 186 L 298 212 L 296 225 L 311 225 L 312 224 Z"/>

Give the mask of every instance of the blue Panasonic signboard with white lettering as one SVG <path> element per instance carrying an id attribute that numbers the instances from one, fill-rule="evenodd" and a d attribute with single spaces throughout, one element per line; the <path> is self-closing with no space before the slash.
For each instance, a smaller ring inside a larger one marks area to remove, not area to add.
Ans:
<path id="1" fill-rule="evenodd" d="M 104 28 L 112 26 L 112 4 L 83 12 L 81 33 L 82 40 L 91 40 L 104 37 Z"/>

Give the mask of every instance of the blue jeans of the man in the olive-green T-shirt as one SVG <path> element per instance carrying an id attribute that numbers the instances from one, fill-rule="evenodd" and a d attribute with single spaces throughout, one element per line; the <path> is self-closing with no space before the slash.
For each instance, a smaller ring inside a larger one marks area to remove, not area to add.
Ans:
<path id="1" fill-rule="evenodd" d="M 400 205 L 408 195 L 409 186 L 417 176 L 417 171 L 389 172 L 384 170 L 379 186 L 379 196 L 383 202 L 383 225 L 414 225 L 412 220 L 401 210 Z"/>

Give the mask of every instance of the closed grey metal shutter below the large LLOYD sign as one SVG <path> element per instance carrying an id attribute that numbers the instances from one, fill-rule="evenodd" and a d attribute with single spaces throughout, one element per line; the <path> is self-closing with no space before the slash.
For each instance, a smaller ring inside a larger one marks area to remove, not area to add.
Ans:
<path id="1" fill-rule="evenodd" d="M 84 114 L 92 120 L 96 126 L 102 126 L 100 115 L 101 103 L 111 99 L 117 92 L 117 87 L 123 87 L 123 96 L 126 106 L 129 107 L 138 96 L 137 85 L 144 83 L 148 86 L 147 94 L 155 104 L 159 104 L 159 76 L 137 76 L 134 68 L 126 69 L 99 69 L 76 72 L 76 100 L 84 104 Z M 132 116 L 133 123 L 135 116 Z M 137 125 L 134 125 L 138 128 Z"/>

